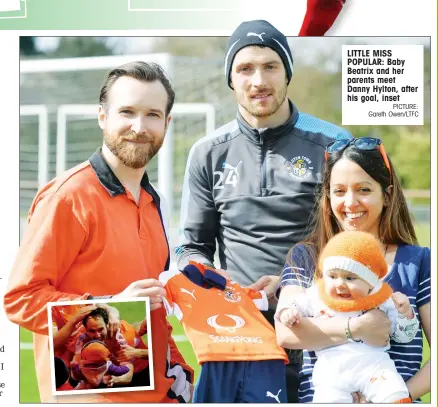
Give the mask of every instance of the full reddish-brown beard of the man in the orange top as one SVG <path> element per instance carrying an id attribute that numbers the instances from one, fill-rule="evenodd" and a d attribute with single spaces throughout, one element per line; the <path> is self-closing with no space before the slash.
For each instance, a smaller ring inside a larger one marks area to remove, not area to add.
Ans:
<path id="1" fill-rule="evenodd" d="M 124 134 L 109 134 L 103 132 L 103 140 L 109 150 L 127 167 L 143 168 L 158 153 L 163 140 L 152 136 L 139 136 L 130 131 Z M 145 142 L 145 144 L 135 144 L 129 141 Z"/>

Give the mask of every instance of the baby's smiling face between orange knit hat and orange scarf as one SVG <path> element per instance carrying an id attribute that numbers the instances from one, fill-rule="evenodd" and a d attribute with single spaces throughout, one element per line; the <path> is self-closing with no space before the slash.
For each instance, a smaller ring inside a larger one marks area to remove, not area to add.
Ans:
<path id="1" fill-rule="evenodd" d="M 349 271 L 330 270 L 324 277 L 327 295 L 338 300 L 354 300 L 366 297 L 372 287 Z"/>

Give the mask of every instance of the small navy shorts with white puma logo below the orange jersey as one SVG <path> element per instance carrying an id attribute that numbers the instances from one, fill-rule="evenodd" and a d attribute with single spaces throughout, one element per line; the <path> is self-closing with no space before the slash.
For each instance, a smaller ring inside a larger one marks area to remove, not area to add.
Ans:
<path id="1" fill-rule="evenodd" d="M 194 403 L 287 403 L 283 360 L 205 362 Z"/>

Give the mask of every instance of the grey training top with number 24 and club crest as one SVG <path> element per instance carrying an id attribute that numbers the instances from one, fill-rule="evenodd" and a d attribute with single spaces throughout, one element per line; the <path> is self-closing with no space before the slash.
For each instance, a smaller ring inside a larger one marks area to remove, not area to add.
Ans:
<path id="1" fill-rule="evenodd" d="M 213 264 L 241 285 L 279 275 L 288 250 L 306 232 L 321 184 L 324 148 L 346 130 L 300 113 L 279 127 L 253 129 L 236 120 L 196 142 L 181 202 L 178 268 Z"/>

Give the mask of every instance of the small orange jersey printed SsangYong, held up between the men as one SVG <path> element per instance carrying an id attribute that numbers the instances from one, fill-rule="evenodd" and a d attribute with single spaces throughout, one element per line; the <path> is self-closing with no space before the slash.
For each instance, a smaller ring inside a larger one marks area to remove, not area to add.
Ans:
<path id="1" fill-rule="evenodd" d="M 180 271 L 165 271 L 163 302 L 176 315 L 193 346 L 198 363 L 283 359 L 274 328 L 259 310 L 268 309 L 263 291 L 227 280 L 225 290 L 202 288 Z"/>

